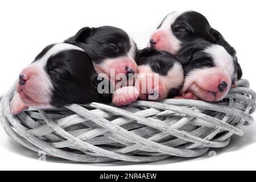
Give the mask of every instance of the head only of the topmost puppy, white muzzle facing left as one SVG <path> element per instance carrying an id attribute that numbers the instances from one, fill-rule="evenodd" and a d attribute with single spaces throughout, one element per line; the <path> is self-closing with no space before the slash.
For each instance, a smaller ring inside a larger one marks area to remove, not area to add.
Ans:
<path id="1" fill-rule="evenodd" d="M 195 11 L 175 11 L 168 14 L 151 35 L 148 46 L 176 55 L 184 42 L 209 36 L 208 20 Z"/>

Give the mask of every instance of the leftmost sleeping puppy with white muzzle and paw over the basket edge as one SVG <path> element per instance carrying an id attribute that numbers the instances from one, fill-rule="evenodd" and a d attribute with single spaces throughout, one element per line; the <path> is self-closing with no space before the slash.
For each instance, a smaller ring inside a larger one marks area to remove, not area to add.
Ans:
<path id="1" fill-rule="evenodd" d="M 41 109 L 69 104 L 111 102 L 112 94 L 98 93 L 98 74 L 92 59 L 72 44 L 52 44 L 23 69 L 11 100 L 11 113 L 28 106 Z"/>

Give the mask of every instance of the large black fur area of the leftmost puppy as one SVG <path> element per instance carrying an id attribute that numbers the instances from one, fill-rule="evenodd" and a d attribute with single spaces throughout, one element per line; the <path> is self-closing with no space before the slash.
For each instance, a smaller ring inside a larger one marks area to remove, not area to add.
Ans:
<path id="1" fill-rule="evenodd" d="M 49 57 L 44 69 L 53 85 L 52 106 L 62 107 L 90 102 L 110 103 L 112 100 L 110 92 L 98 93 L 98 75 L 94 71 L 92 59 L 83 51 L 59 52 Z"/>

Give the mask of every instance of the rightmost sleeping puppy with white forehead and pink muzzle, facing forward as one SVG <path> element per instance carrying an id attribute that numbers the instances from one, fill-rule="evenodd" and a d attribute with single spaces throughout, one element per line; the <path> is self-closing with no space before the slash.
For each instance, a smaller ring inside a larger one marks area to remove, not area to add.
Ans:
<path id="1" fill-rule="evenodd" d="M 183 98 L 217 102 L 236 86 L 236 60 L 218 44 L 195 40 L 184 44 L 177 57 L 185 73 Z"/>

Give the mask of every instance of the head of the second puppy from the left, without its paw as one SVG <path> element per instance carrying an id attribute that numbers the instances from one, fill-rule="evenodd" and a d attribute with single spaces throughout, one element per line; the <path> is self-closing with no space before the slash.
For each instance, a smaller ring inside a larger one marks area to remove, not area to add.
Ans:
<path id="1" fill-rule="evenodd" d="M 137 45 L 120 28 L 84 27 L 67 42 L 78 44 L 88 53 L 97 73 L 106 73 L 110 77 L 110 70 L 114 70 L 114 76 L 137 71 L 134 61 Z"/>

